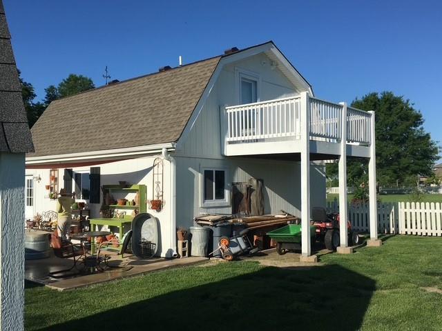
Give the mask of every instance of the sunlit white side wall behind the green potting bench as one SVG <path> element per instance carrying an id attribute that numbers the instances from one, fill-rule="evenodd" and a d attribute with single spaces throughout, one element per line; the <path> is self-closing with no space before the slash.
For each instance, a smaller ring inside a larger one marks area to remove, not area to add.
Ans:
<path id="1" fill-rule="evenodd" d="M 118 181 L 127 181 L 131 184 L 144 184 L 147 187 L 147 199 L 153 199 L 153 180 L 152 180 L 152 165 L 153 160 L 156 156 L 153 157 L 142 157 L 138 159 L 129 159 L 125 161 L 117 161 L 111 163 L 103 163 L 100 165 L 95 165 L 100 167 L 100 185 L 115 185 L 118 184 Z M 175 232 L 172 229 L 171 222 L 171 210 L 170 210 L 170 163 L 168 161 L 164 161 L 164 209 L 160 212 L 156 212 L 155 210 L 149 210 L 147 206 L 147 212 L 153 214 L 159 220 L 159 229 L 160 229 L 160 247 L 158 252 L 160 252 L 162 257 L 165 257 L 166 254 L 171 253 L 171 249 L 175 247 L 175 243 L 171 241 L 171 233 Z M 73 171 L 79 170 L 90 170 L 90 167 L 79 167 L 72 168 Z M 46 210 L 55 210 L 57 201 L 48 198 L 48 191 L 46 191 L 45 185 L 49 182 L 49 170 L 48 169 L 35 169 L 35 170 L 26 170 L 26 174 L 32 174 L 33 176 L 40 175 L 41 181 L 40 183 L 35 182 L 35 211 L 36 212 L 44 212 Z M 59 189 L 63 188 L 64 181 L 64 168 L 59 169 Z M 24 178 L 24 177 L 23 177 Z M 100 201 L 103 201 L 100 191 Z M 116 194 L 115 199 L 117 199 Z M 90 209 L 90 214 L 92 217 L 99 217 L 99 208 L 101 207 L 101 203 L 90 203 L 88 204 L 88 208 Z M 126 212 L 131 212 L 131 210 L 126 210 Z M 117 233 L 117 229 L 110 229 Z M 124 229 L 125 231 L 128 228 Z"/>

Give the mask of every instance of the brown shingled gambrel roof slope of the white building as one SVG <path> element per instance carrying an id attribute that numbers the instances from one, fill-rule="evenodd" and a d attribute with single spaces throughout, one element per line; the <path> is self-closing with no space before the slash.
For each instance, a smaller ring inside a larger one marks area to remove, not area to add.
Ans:
<path id="1" fill-rule="evenodd" d="M 221 57 L 52 101 L 28 157 L 177 141 Z"/>

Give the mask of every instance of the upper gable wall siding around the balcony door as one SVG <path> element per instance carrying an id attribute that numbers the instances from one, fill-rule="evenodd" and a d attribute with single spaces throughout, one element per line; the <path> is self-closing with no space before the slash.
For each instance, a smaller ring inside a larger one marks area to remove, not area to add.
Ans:
<path id="1" fill-rule="evenodd" d="M 262 62 L 265 65 L 262 66 Z M 271 70 L 270 59 L 258 54 L 225 66 L 215 82 L 189 136 L 177 154 L 182 156 L 222 158 L 220 137 L 220 106 L 238 104 L 235 68 L 260 74 L 260 100 L 298 95 L 294 86 L 278 68 Z"/>

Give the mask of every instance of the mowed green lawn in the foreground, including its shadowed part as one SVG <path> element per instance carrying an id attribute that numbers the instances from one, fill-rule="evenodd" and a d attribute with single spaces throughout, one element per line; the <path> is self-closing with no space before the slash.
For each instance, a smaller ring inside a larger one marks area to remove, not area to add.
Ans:
<path id="1" fill-rule="evenodd" d="M 312 268 L 236 261 L 70 292 L 27 284 L 26 330 L 442 330 L 442 294 L 423 290 L 442 288 L 441 252 L 441 238 L 396 236 Z"/>

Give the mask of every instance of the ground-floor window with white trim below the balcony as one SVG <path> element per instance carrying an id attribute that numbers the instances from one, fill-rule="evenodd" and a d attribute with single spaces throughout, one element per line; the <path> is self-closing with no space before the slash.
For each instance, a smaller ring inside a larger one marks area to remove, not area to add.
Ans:
<path id="1" fill-rule="evenodd" d="M 229 202 L 227 172 L 225 169 L 202 170 L 203 205 L 225 205 Z"/>

